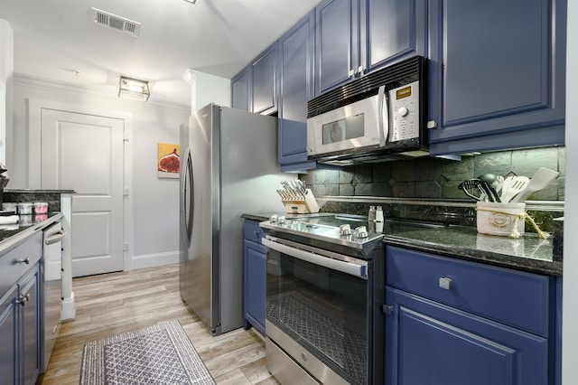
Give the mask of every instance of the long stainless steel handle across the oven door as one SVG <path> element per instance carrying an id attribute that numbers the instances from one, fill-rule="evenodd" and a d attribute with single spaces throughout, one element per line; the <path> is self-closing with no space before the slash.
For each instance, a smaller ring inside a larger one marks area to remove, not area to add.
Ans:
<path id="1" fill-rule="evenodd" d="M 368 277 L 368 263 L 365 261 L 359 261 L 359 265 L 351 262 L 344 262 L 342 260 L 324 257 L 310 251 L 285 246 L 266 238 L 261 239 L 261 243 L 269 249 L 274 249 L 288 256 L 299 258 L 306 262 L 310 262 L 313 265 L 331 268 L 332 270 L 338 270 L 355 277 Z"/>

